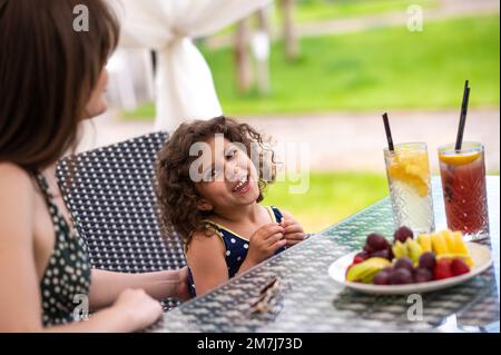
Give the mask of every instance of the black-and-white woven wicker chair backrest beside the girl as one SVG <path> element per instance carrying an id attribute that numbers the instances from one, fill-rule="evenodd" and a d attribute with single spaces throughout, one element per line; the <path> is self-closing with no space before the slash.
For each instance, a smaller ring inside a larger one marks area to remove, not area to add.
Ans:
<path id="1" fill-rule="evenodd" d="M 180 237 L 161 238 L 157 219 L 155 161 L 167 137 L 155 132 L 59 161 L 58 184 L 94 267 L 147 273 L 186 265 Z"/>

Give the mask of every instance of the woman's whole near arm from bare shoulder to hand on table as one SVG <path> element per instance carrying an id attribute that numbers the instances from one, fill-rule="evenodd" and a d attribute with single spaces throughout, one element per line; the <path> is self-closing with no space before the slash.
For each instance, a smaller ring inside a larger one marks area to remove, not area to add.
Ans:
<path id="1" fill-rule="evenodd" d="M 134 332 L 161 316 L 143 290 L 127 290 L 87 322 L 43 328 L 35 263 L 35 189 L 20 168 L 0 164 L 0 332 Z"/>

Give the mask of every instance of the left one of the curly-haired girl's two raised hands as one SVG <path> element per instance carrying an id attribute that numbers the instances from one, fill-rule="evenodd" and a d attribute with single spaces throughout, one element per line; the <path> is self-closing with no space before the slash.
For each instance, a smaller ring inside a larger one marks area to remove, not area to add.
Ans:
<path id="1" fill-rule="evenodd" d="M 273 256 L 285 244 L 284 228 L 279 224 L 264 225 L 252 235 L 246 260 L 257 265 Z"/>

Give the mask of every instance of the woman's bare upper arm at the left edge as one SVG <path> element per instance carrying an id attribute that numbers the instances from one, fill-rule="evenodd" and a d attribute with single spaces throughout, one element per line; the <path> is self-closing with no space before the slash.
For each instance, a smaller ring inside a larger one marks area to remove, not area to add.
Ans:
<path id="1" fill-rule="evenodd" d="M 33 209 L 33 187 L 28 175 L 0 164 L 0 332 L 41 328 Z"/>

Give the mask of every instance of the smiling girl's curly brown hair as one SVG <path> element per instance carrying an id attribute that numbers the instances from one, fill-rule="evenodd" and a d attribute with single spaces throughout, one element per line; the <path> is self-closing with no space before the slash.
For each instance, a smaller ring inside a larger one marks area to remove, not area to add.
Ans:
<path id="1" fill-rule="evenodd" d="M 203 220 L 212 214 L 212 211 L 197 209 L 202 196 L 189 176 L 189 168 L 197 157 L 190 156 L 189 149 L 194 144 L 205 141 L 216 134 L 224 135 L 224 138 L 230 142 L 243 144 L 247 155 L 252 151 L 252 145 L 257 144 L 259 161 L 257 164 L 254 161 L 259 172 L 257 203 L 264 199 L 267 185 L 275 180 L 275 154 L 267 146 L 264 136 L 253 127 L 247 124 L 239 124 L 225 116 L 206 121 L 196 120 L 181 124 L 158 155 L 156 193 L 164 236 L 169 237 L 178 233 L 181 235 L 185 245 L 189 245 L 195 231 L 209 231 L 208 226 Z M 271 160 L 267 160 L 267 166 L 266 160 L 265 162 L 262 160 L 263 154 L 266 152 L 271 154 L 272 157 Z M 265 169 L 271 171 L 267 180 L 264 179 Z M 207 235 L 210 235 L 210 233 Z"/>

